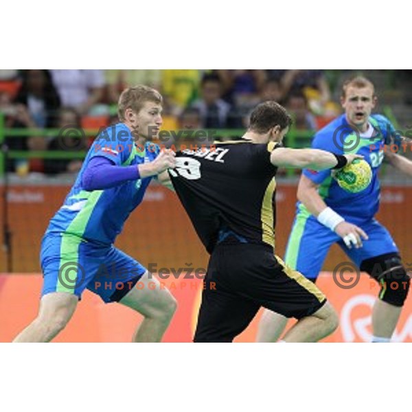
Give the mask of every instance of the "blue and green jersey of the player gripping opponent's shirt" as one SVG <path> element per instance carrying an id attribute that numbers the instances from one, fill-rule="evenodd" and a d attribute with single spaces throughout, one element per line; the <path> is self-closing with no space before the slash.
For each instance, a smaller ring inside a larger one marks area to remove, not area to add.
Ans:
<path id="1" fill-rule="evenodd" d="M 141 203 L 151 177 L 127 181 L 106 190 L 87 192 L 82 187 L 82 175 L 93 157 L 106 157 L 115 165 L 148 163 L 159 155 L 159 146 L 147 142 L 139 147 L 126 124 L 110 126 L 93 142 L 76 182 L 62 207 L 47 228 L 46 235 L 62 233 L 89 242 L 110 245 L 122 231 L 129 214 Z"/>

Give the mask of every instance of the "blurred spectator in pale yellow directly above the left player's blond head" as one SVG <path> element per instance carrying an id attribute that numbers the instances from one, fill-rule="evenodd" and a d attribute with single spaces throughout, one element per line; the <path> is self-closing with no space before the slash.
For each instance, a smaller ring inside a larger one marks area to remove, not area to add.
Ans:
<path id="1" fill-rule="evenodd" d="M 116 104 L 119 101 L 120 93 L 127 87 L 134 87 L 137 84 L 147 84 L 153 89 L 161 89 L 161 70 L 105 70 L 108 103 Z"/>

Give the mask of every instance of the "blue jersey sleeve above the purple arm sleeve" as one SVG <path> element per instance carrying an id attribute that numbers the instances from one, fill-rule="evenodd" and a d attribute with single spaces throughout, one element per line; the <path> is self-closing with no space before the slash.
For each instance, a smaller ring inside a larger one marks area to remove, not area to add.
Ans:
<path id="1" fill-rule="evenodd" d="M 130 139 L 126 139 L 126 130 L 106 128 L 91 145 L 91 158 L 106 157 L 115 165 L 125 163 L 133 150 Z"/>

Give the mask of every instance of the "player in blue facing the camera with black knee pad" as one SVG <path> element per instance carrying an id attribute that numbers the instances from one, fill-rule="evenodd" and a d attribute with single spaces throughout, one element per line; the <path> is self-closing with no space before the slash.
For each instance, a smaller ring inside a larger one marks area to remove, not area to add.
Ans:
<path id="1" fill-rule="evenodd" d="M 371 115 L 376 106 L 374 84 L 363 77 L 343 85 L 345 113 L 319 130 L 312 148 L 336 155 L 356 153 L 371 166 L 371 184 L 356 194 L 346 192 L 332 179 L 330 170 L 304 170 L 297 190 L 297 214 L 286 248 L 285 262 L 316 281 L 326 255 L 337 243 L 347 256 L 380 284 L 372 312 L 373 342 L 389 342 L 409 292 L 409 276 L 389 231 L 375 219 L 379 208 L 378 172 L 387 153 L 399 170 L 411 172 L 407 159 L 391 153 L 385 144 L 400 139 L 382 115 Z M 286 318 L 266 311 L 258 341 L 277 341 Z"/>

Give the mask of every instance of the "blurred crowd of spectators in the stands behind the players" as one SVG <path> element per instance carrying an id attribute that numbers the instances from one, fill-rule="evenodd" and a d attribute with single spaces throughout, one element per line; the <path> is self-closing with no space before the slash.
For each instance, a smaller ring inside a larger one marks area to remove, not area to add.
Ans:
<path id="1" fill-rule="evenodd" d="M 411 72 L 385 71 L 385 89 L 396 89 L 399 79 L 411 81 Z M 302 132 L 308 137 L 341 113 L 341 81 L 358 73 L 307 69 L 0 70 L 0 115 L 8 130 L 67 125 L 98 129 L 118 121 L 117 100 L 123 89 L 147 84 L 163 95 L 165 130 L 244 129 L 256 104 L 275 100 L 293 115 L 293 135 Z M 412 100 L 403 96 L 401 103 L 408 106 Z M 84 147 L 77 149 L 87 150 L 90 143 L 84 141 Z M 56 136 L 45 137 L 40 131 L 30 137 L 5 133 L 5 144 L 8 150 L 65 150 Z M 81 165 L 80 159 L 30 159 L 26 171 L 75 173 Z M 6 167 L 15 172 L 18 165 L 14 161 Z"/>

